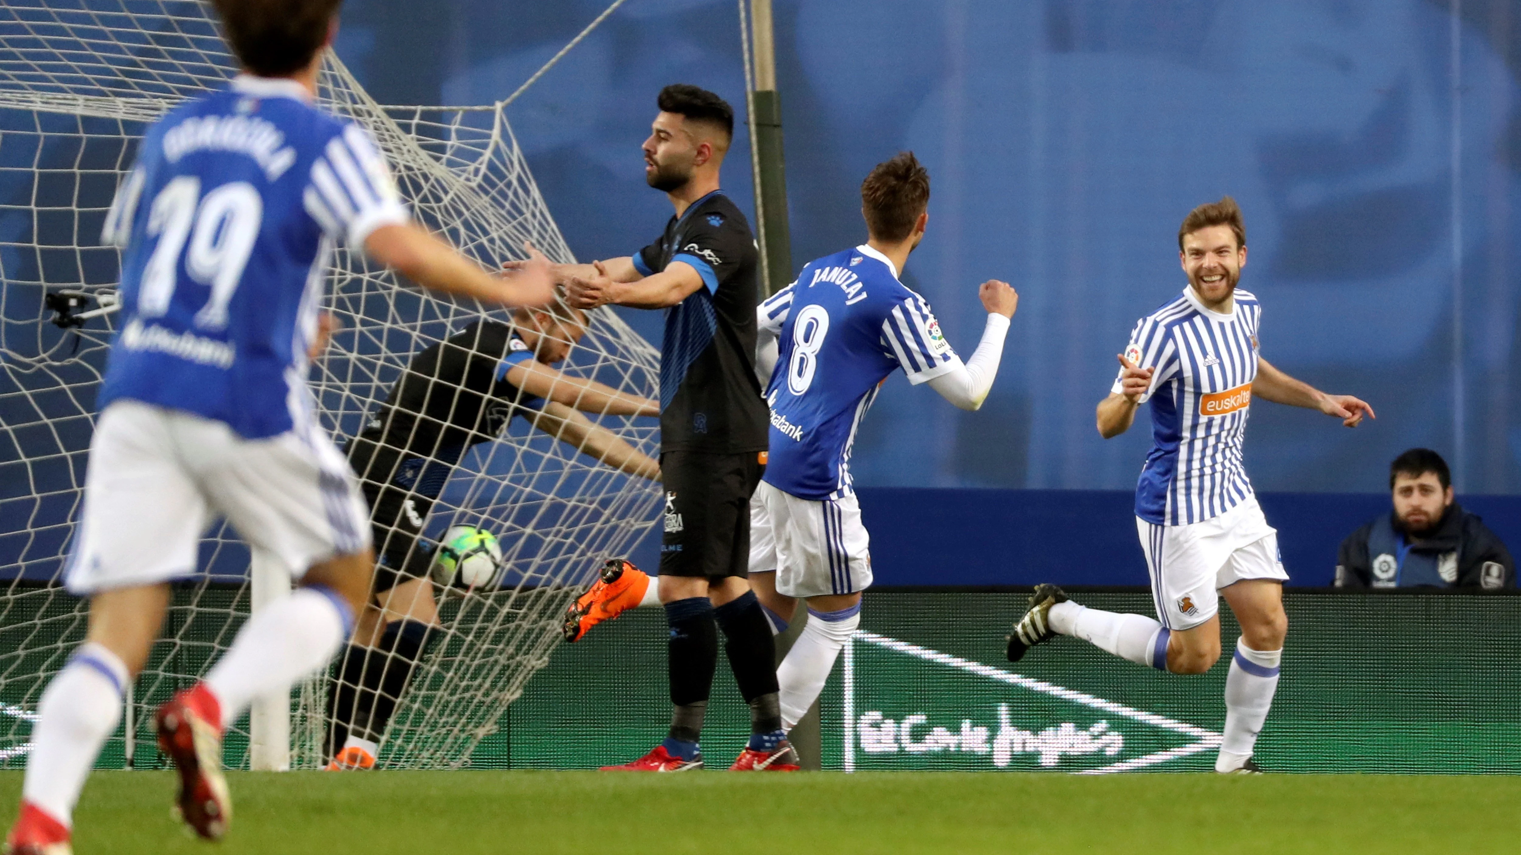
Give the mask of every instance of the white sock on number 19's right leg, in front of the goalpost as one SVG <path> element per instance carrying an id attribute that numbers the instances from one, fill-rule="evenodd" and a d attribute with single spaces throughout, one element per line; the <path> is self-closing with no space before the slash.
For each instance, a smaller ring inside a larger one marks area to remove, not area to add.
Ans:
<path id="1" fill-rule="evenodd" d="M 351 627 L 348 603 L 315 585 L 254 612 L 205 676 L 222 703 L 222 727 L 237 721 L 256 697 L 289 691 L 291 683 L 325 665 Z"/>

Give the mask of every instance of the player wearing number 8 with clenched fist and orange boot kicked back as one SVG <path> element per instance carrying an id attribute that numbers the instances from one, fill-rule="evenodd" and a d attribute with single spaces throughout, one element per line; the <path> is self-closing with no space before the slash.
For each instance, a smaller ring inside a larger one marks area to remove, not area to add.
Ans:
<path id="1" fill-rule="evenodd" d="M 876 390 L 902 369 L 911 384 L 928 383 L 957 407 L 980 409 L 1019 302 L 1007 282 L 983 282 L 978 296 L 987 325 L 963 363 L 929 305 L 899 281 L 925 237 L 928 205 L 929 173 L 913 153 L 878 164 L 861 184 L 867 241 L 809 263 L 757 308 L 757 369 L 768 378 L 771 433 L 765 477 L 750 503 L 750 579 L 777 632 L 800 598 L 809 614 L 777 670 L 788 730 L 812 706 L 861 624 L 861 591 L 872 585 L 849 462 Z M 643 573 L 610 562 L 604 580 L 572 609 L 566 636 L 573 641 L 637 604 L 645 586 Z"/>

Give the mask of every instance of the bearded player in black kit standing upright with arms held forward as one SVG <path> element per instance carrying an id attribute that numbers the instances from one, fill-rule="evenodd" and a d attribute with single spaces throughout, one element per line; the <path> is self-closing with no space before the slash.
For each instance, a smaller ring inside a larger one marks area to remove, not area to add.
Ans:
<path id="1" fill-rule="evenodd" d="M 730 768 L 792 770 L 782 732 L 771 627 L 745 579 L 750 494 L 765 469 L 767 405 L 754 375 L 757 251 L 750 223 L 718 188 L 735 114 L 713 93 L 660 91 L 645 140 L 645 179 L 675 207 L 633 257 L 557 266 L 570 305 L 665 308 L 660 471 L 666 491 L 659 594 L 671 624 L 674 712 L 668 738 L 614 768 L 701 768 L 698 735 L 718 661 L 718 630 L 750 703 L 750 744 Z"/>

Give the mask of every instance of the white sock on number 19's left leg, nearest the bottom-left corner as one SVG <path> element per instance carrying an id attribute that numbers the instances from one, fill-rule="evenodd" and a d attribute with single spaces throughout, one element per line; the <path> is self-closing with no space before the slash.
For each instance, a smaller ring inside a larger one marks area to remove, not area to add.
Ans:
<path id="1" fill-rule="evenodd" d="M 116 653 L 87 642 L 37 705 L 21 797 L 67 826 L 100 746 L 122 720 L 126 679 L 126 665 Z"/>

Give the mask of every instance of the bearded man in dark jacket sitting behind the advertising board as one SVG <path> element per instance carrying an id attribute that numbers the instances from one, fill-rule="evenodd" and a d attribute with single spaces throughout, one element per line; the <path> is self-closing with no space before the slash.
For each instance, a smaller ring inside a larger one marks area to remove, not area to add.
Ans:
<path id="1" fill-rule="evenodd" d="M 1515 588 L 1500 538 L 1453 501 L 1446 462 L 1411 448 L 1389 466 L 1395 510 L 1342 541 L 1337 588 Z"/>

